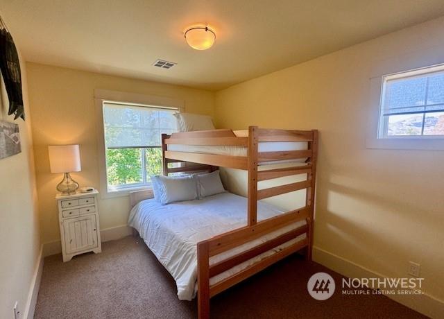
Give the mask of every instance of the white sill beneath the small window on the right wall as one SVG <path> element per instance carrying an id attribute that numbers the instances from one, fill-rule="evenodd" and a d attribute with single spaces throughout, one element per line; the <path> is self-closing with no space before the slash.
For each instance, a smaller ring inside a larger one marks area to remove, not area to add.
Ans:
<path id="1" fill-rule="evenodd" d="M 382 148 L 391 150 L 444 150 L 443 138 L 368 138 L 366 144 L 367 148 Z"/>

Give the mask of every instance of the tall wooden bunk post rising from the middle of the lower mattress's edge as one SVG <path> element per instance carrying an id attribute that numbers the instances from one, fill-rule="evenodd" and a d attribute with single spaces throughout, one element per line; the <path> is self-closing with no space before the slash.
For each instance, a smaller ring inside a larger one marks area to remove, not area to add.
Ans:
<path id="1" fill-rule="evenodd" d="M 257 126 L 248 127 L 248 226 L 257 223 Z"/>

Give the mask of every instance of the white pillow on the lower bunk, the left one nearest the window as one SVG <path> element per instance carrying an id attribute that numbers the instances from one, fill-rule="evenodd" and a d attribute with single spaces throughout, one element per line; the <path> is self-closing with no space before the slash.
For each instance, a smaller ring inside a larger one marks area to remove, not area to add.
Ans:
<path id="1" fill-rule="evenodd" d="M 196 178 L 193 175 L 178 177 L 157 175 L 152 176 L 151 180 L 154 181 L 154 197 L 162 205 L 198 198 Z"/>

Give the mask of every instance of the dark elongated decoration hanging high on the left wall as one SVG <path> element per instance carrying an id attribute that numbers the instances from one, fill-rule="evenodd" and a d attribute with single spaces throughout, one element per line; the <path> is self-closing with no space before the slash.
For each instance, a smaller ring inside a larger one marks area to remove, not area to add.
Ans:
<path id="1" fill-rule="evenodd" d="M 14 114 L 14 119 L 25 119 L 22 97 L 22 73 L 20 71 L 19 55 L 15 48 L 12 35 L 0 17 L 0 71 L 5 83 L 9 99 L 8 115 Z"/>

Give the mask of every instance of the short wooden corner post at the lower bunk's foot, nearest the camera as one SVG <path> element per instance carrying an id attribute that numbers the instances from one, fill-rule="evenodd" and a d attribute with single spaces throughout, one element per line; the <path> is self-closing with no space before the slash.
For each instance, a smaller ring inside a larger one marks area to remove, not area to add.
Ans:
<path id="1" fill-rule="evenodd" d="M 197 244 L 198 318 L 210 318 L 210 250 L 207 241 Z"/>

